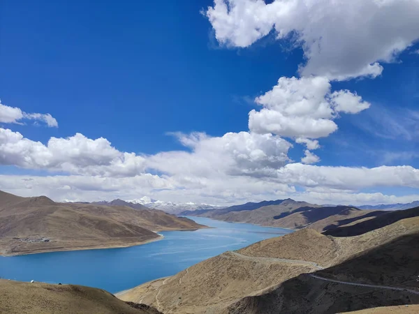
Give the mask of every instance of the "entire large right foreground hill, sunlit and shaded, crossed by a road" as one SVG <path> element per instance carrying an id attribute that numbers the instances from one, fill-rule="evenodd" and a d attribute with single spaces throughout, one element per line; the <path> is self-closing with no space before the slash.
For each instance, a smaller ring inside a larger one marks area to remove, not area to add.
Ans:
<path id="1" fill-rule="evenodd" d="M 179 314 L 332 314 L 419 304 L 419 217 L 404 217 L 409 218 L 383 226 L 370 223 L 369 232 L 353 237 L 304 228 L 212 257 L 118 297 Z"/>

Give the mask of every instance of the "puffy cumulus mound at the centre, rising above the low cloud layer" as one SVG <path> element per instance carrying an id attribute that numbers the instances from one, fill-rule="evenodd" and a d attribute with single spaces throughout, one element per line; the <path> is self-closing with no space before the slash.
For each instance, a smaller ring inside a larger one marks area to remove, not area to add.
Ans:
<path id="1" fill-rule="evenodd" d="M 179 142 L 192 149 L 168 151 L 147 158 L 147 167 L 169 174 L 214 175 L 249 174 L 257 176 L 266 169 L 288 163 L 292 144 L 272 134 L 249 132 L 226 133 L 210 137 L 205 133 L 174 134 Z"/>

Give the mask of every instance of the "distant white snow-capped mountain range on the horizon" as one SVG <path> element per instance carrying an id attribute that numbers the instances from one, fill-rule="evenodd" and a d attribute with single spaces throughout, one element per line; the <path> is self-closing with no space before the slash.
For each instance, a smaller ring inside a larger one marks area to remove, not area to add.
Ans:
<path id="1" fill-rule="evenodd" d="M 128 200 L 127 202 L 133 204 L 141 204 L 145 207 L 161 209 L 167 211 L 170 214 L 179 214 L 182 211 L 196 211 L 197 209 L 221 209 L 223 207 L 211 205 L 211 204 L 196 204 L 193 202 L 186 203 L 175 203 L 175 202 L 163 202 L 161 200 L 154 200 L 150 197 L 143 196 L 136 200 Z"/>

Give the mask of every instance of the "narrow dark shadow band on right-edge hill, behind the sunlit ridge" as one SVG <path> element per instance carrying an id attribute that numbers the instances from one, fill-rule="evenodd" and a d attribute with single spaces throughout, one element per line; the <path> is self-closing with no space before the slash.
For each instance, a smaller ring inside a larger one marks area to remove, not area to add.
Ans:
<path id="1" fill-rule="evenodd" d="M 369 231 L 391 225 L 399 220 L 419 216 L 419 207 L 405 209 L 404 211 L 390 211 L 385 214 L 381 214 L 376 218 L 372 218 L 367 221 L 362 221 L 356 225 L 350 225 L 348 227 L 338 227 L 332 230 L 323 232 L 325 235 L 331 235 L 333 237 L 353 237 L 360 234 L 365 234 Z"/>

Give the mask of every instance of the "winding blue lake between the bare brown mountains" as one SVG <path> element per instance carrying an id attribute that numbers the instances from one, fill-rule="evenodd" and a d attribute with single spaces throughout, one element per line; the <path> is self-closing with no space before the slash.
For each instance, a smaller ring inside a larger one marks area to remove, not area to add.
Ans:
<path id="1" fill-rule="evenodd" d="M 0 257 L 0 276 L 17 281 L 88 285 L 115 293 L 172 276 L 225 251 L 292 232 L 248 223 L 188 218 L 214 229 L 159 232 L 164 236 L 161 241 L 129 248 Z"/>

